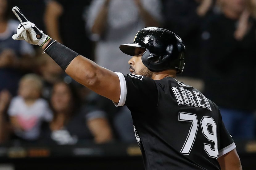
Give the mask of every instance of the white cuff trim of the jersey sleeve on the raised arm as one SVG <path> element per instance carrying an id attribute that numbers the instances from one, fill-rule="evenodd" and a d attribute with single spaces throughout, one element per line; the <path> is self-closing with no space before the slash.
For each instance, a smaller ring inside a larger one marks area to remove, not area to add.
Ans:
<path id="1" fill-rule="evenodd" d="M 121 90 L 121 92 L 120 92 L 119 102 L 116 103 L 116 102 L 113 101 L 115 106 L 118 107 L 118 106 L 123 106 L 125 104 L 127 89 L 126 89 L 126 81 L 125 81 L 124 75 L 122 73 L 119 73 L 119 72 L 114 72 L 114 73 L 116 73 L 118 75 L 119 81 L 120 81 L 120 90 Z"/>

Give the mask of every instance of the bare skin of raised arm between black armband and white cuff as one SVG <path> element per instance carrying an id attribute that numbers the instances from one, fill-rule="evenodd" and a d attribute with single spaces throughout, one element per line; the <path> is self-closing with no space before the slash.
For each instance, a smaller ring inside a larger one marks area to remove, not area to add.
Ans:
<path id="1" fill-rule="evenodd" d="M 119 102 L 120 81 L 118 75 L 113 71 L 79 55 L 70 62 L 65 72 L 95 93 L 114 102 Z"/>

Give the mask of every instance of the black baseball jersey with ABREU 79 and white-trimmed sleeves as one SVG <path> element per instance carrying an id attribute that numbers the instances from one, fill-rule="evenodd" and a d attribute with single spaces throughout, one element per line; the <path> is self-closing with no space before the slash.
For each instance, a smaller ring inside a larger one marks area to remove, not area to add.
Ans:
<path id="1" fill-rule="evenodd" d="M 146 170 L 218 170 L 236 146 L 218 107 L 195 88 L 166 77 L 117 73 Z"/>

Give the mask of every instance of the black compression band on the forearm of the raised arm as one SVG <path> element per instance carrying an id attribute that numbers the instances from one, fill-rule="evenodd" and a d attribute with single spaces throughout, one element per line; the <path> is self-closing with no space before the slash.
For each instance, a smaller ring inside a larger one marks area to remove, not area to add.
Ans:
<path id="1" fill-rule="evenodd" d="M 62 45 L 58 42 L 52 43 L 54 40 L 51 40 L 47 47 L 45 48 L 45 53 L 47 53 L 52 59 L 65 71 L 69 63 L 79 55 L 72 49 L 69 49 L 65 45 Z"/>

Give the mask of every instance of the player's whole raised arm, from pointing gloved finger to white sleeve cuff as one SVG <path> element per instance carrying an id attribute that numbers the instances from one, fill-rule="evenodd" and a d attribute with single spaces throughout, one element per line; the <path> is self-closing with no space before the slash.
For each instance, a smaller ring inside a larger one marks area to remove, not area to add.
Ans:
<path id="1" fill-rule="evenodd" d="M 35 24 L 29 22 L 18 7 L 14 7 L 13 12 L 21 22 L 17 34 L 12 37 L 14 40 L 25 40 L 30 44 L 39 45 L 74 80 L 101 96 L 107 97 L 116 103 L 119 102 L 120 82 L 116 73 L 53 41 Z"/>

